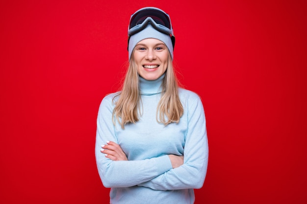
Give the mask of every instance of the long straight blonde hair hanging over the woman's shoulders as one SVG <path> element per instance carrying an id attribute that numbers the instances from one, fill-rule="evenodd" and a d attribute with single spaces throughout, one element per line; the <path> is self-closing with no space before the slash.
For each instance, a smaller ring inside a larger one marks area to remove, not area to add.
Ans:
<path id="1" fill-rule="evenodd" d="M 178 80 L 173 68 L 171 55 L 168 52 L 168 65 L 162 82 L 162 95 L 157 106 L 156 120 L 158 123 L 168 125 L 172 122 L 179 123 L 183 114 L 183 107 L 178 94 Z M 115 98 L 118 97 L 116 101 Z M 112 121 L 121 124 L 122 129 L 127 123 L 135 123 L 141 115 L 141 96 L 139 91 L 139 75 L 131 54 L 128 71 L 122 86 L 122 91 L 113 97 L 115 107 L 113 109 Z"/>

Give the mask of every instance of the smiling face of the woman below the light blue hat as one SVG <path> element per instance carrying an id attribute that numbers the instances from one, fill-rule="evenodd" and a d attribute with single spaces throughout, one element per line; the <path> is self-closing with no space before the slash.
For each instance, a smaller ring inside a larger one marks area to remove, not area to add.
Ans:
<path id="1" fill-rule="evenodd" d="M 166 71 L 168 49 L 162 41 L 154 38 L 144 39 L 136 44 L 134 49 L 133 57 L 141 77 L 155 80 Z"/>

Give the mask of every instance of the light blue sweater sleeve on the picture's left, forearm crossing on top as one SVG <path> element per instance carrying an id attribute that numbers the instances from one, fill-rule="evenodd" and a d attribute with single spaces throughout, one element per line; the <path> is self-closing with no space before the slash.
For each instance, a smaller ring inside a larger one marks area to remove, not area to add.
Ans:
<path id="1" fill-rule="evenodd" d="M 112 122 L 113 104 L 111 95 L 106 96 L 99 107 L 95 144 L 96 163 L 100 178 L 105 187 L 129 187 L 150 181 L 158 175 L 172 169 L 169 157 L 113 161 L 100 152 L 106 141 L 117 142 Z"/>

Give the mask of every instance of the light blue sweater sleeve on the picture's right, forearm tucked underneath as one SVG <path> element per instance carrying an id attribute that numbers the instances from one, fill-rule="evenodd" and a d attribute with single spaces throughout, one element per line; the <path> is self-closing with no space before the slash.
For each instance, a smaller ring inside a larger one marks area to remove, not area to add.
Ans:
<path id="1" fill-rule="evenodd" d="M 205 113 L 199 97 L 188 105 L 188 130 L 184 145 L 184 163 L 156 178 L 139 184 L 154 190 L 201 188 L 208 164 Z"/>

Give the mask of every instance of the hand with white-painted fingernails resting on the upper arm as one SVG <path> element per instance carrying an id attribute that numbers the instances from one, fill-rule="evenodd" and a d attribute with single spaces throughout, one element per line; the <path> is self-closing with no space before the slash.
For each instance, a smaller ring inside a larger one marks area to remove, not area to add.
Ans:
<path id="1" fill-rule="evenodd" d="M 128 161 L 126 154 L 121 146 L 112 141 L 107 141 L 107 144 L 102 145 L 101 153 L 113 161 Z"/>

